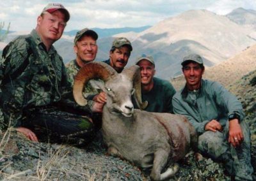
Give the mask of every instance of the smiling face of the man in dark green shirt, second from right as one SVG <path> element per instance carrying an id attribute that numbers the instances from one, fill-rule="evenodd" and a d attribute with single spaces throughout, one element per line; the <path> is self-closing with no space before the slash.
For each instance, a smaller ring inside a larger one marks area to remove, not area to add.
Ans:
<path id="1" fill-rule="evenodd" d="M 149 85 L 150 83 L 153 83 L 153 77 L 156 73 L 154 65 L 143 59 L 138 63 L 138 66 L 140 66 L 141 84 Z"/>

